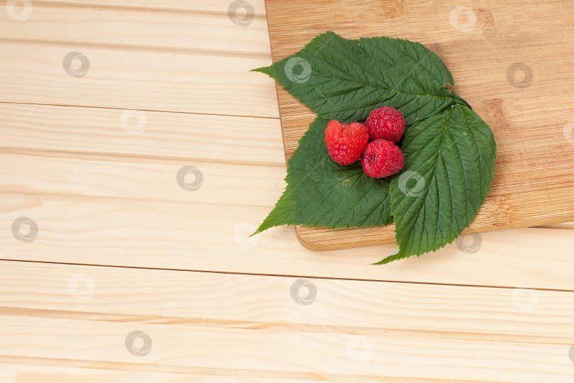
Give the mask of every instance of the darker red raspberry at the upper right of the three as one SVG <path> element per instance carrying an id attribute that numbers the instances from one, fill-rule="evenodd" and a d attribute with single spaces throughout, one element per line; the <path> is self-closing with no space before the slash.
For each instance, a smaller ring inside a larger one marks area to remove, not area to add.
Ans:
<path id="1" fill-rule="evenodd" d="M 371 141 L 383 139 L 396 143 L 405 133 L 407 122 L 403 113 L 390 106 L 383 106 L 369 113 L 365 125 Z"/>

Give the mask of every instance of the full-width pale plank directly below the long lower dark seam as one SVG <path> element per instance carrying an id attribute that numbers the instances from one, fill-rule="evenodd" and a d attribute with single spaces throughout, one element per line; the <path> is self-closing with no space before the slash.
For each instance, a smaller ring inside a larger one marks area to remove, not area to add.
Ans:
<path id="1" fill-rule="evenodd" d="M 291 292 L 298 277 L 0 265 L 0 321 L 9 315 L 540 344 L 567 344 L 574 335 L 574 292 L 337 279 L 305 279 L 307 287 Z M 310 292 L 307 304 L 298 304 Z"/>

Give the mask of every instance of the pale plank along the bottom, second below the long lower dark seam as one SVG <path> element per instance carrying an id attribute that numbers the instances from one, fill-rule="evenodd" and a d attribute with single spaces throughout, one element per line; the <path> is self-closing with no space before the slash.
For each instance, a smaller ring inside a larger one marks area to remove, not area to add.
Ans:
<path id="1" fill-rule="evenodd" d="M 128 364 L 135 370 L 146 371 L 147 365 L 159 365 L 164 372 L 183 368 L 235 377 L 323 377 L 335 382 L 364 377 L 540 382 L 574 376 L 568 359 L 570 345 L 405 335 L 373 335 L 365 339 L 354 334 L 23 316 L 1 316 L 0 323 L 4 331 L 0 338 L 3 355 L 45 357 L 49 350 L 54 365 L 58 360 L 81 360 L 111 369 Z M 130 340 L 134 331 L 142 338 Z M 126 341 L 130 348 L 126 347 Z M 143 350 L 143 355 L 136 356 L 137 350 Z"/>

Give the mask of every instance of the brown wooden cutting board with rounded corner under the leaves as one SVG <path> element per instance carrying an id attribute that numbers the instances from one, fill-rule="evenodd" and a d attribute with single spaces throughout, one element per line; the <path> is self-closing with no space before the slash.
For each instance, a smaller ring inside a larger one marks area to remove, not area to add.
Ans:
<path id="1" fill-rule="evenodd" d="M 574 8 L 568 1 L 267 0 L 273 60 L 315 35 L 420 41 L 493 129 L 490 192 L 465 233 L 574 220 Z M 286 158 L 315 118 L 277 87 Z M 393 243 L 394 226 L 297 227 L 312 250 Z"/>

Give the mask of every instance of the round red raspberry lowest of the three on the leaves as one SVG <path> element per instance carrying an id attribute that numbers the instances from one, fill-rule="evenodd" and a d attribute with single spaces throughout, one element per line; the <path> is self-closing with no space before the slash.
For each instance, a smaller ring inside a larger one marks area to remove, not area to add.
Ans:
<path id="1" fill-rule="evenodd" d="M 369 177 L 388 177 L 403 169 L 405 155 L 388 140 L 374 140 L 366 146 L 361 165 Z"/>

